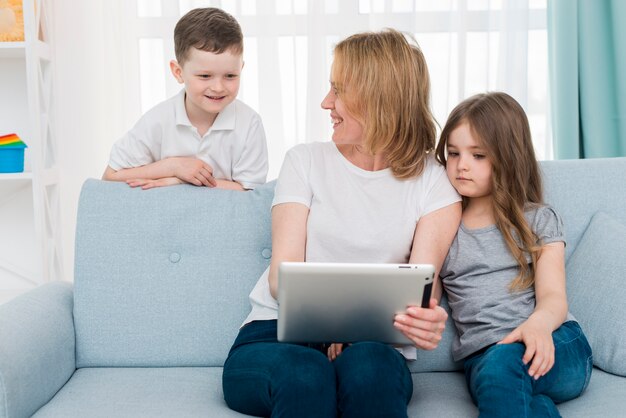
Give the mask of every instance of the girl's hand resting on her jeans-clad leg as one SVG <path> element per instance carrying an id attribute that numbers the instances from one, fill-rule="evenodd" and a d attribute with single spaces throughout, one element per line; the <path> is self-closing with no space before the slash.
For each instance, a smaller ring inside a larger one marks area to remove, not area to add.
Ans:
<path id="1" fill-rule="evenodd" d="M 528 374 L 535 380 L 544 376 L 554 366 L 552 332 L 545 325 L 542 325 L 542 322 L 540 318 L 531 316 L 498 343 L 523 342 L 526 346 L 526 352 L 524 352 L 522 361 L 524 364 L 528 364 L 532 360 Z"/>

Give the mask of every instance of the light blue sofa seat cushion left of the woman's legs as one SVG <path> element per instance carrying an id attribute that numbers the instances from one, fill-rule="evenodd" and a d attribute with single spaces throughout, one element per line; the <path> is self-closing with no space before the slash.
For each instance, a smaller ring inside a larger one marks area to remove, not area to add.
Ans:
<path id="1" fill-rule="evenodd" d="M 85 368 L 33 418 L 244 417 L 222 394 L 221 367 Z"/>

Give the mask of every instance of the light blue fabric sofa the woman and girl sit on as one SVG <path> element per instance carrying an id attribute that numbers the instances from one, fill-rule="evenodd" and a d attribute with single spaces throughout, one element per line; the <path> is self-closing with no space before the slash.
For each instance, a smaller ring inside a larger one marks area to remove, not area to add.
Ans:
<path id="1" fill-rule="evenodd" d="M 565 417 L 626 414 L 626 158 L 545 162 L 568 237 L 570 308 L 594 349 Z M 236 417 L 222 363 L 271 257 L 273 184 L 240 193 L 88 180 L 74 284 L 0 306 L 0 417 Z M 411 364 L 409 415 L 473 417 L 455 330 Z"/>

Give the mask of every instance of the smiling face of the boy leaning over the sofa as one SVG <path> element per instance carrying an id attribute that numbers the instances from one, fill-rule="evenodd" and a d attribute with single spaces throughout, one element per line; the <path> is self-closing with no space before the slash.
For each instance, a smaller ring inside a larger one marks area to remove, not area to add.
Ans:
<path id="1" fill-rule="evenodd" d="M 231 50 L 216 54 L 191 48 L 182 65 L 172 61 L 170 68 L 176 80 L 185 84 L 189 121 L 195 126 L 207 120 L 212 124 L 239 93 L 243 58 Z"/>

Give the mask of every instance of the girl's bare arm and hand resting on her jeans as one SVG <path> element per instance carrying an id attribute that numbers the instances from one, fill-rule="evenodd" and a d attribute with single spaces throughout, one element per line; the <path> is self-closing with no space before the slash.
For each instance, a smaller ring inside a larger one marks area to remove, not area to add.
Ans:
<path id="1" fill-rule="evenodd" d="M 554 365 L 552 332 L 567 318 L 565 292 L 565 245 L 546 244 L 535 266 L 536 306 L 532 315 L 500 341 L 508 344 L 521 341 L 526 345 L 522 360 L 532 363 L 528 374 L 535 379 L 545 375 Z"/>

